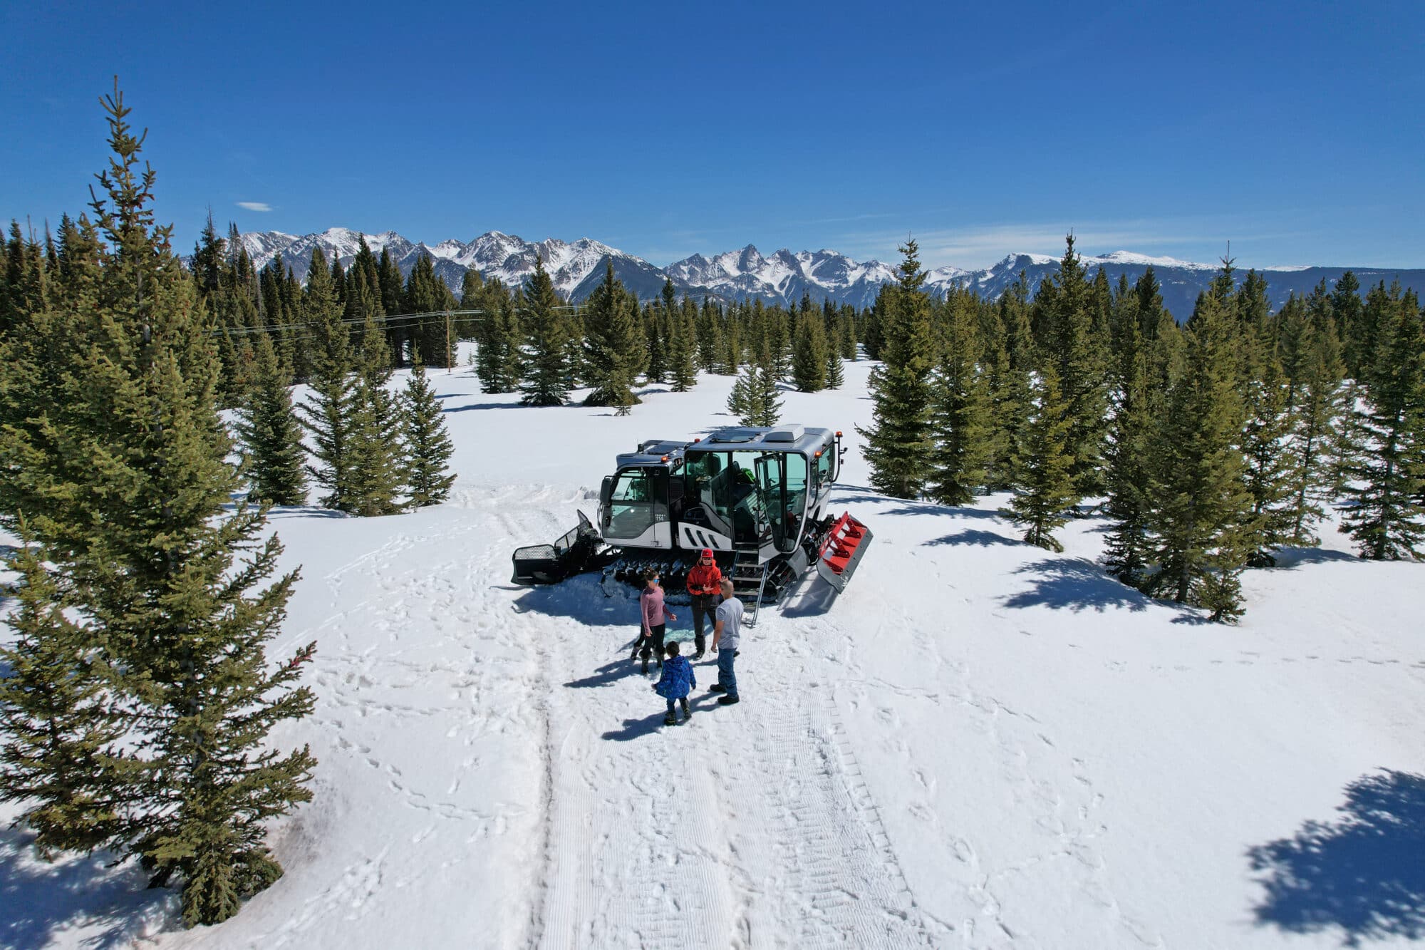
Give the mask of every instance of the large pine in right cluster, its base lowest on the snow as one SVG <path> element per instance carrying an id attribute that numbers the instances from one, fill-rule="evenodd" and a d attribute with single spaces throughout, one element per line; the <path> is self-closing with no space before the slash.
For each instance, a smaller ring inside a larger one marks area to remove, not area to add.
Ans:
<path id="1" fill-rule="evenodd" d="M 1207 608 L 1214 620 L 1241 613 L 1240 575 L 1251 546 L 1234 345 L 1230 314 L 1214 294 L 1200 295 L 1153 451 L 1157 572 L 1144 586 Z"/>

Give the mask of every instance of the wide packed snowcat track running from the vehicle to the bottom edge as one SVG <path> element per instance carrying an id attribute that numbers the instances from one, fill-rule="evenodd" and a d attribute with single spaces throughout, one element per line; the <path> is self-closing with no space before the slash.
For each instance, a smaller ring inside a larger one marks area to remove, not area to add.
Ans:
<path id="1" fill-rule="evenodd" d="M 502 516 L 539 521 L 510 504 Z M 915 904 L 826 678 L 808 688 L 815 658 L 788 648 L 795 626 L 747 632 L 735 708 L 712 702 L 717 669 L 698 663 L 693 722 L 667 727 L 651 672 L 627 658 L 634 592 L 611 601 L 616 623 L 587 622 L 610 606 L 593 576 L 517 601 L 549 723 L 532 943 L 933 946 L 945 929 Z"/>

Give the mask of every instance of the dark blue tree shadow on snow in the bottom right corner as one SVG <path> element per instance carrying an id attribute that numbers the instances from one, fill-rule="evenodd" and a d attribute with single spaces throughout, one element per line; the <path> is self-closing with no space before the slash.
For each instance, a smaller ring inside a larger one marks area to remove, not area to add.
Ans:
<path id="1" fill-rule="evenodd" d="M 1338 927 L 1348 947 L 1425 937 L 1425 776 L 1362 776 L 1338 810 L 1338 822 L 1305 822 L 1248 849 L 1265 889 L 1257 924 L 1298 934 Z"/>

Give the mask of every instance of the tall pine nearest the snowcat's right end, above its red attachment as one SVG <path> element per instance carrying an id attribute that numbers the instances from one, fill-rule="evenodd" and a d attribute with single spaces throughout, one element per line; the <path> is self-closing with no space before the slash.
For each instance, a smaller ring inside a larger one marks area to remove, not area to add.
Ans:
<path id="1" fill-rule="evenodd" d="M 871 484 L 895 498 L 916 498 L 929 476 L 931 439 L 931 301 L 919 247 L 901 248 L 901 280 L 881 291 L 881 365 L 871 371 L 875 409 L 871 427 L 858 432 L 866 439 Z"/>

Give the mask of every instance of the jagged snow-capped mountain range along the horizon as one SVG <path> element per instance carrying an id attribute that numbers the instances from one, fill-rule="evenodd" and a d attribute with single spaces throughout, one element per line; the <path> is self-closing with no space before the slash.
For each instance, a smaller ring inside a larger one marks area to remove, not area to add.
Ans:
<path id="1" fill-rule="evenodd" d="M 362 234 L 349 228 L 328 228 L 319 234 L 296 237 L 281 231 L 255 231 L 242 235 L 242 244 L 258 268 L 266 267 L 278 254 L 298 280 L 306 278 L 312 248 L 321 247 L 326 260 L 335 254 L 346 265 L 356 257 L 361 238 L 378 257 L 388 251 L 410 274 L 422 254 L 435 261 L 435 271 L 459 294 L 466 270 L 476 268 L 484 280 L 499 278 L 507 287 L 519 287 L 534 272 L 536 257 L 544 262 L 554 287 L 571 301 L 583 301 L 603 280 L 604 258 L 611 258 L 614 275 L 643 300 L 657 297 L 667 280 L 678 295 L 720 300 L 748 300 L 760 297 L 767 302 L 794 304 L 809 294 L 817 302 L 869 307 L 882 284 L 896 280 L 896 270 L 882 261 L 855 261 L 836 251 L 778 250 L 762 255 L 754 245 L 725 251 L 714 257 L 694 254 L 665 268 L 641 257 L 626 254 L 591 238 L 574 242 L 546 238 L 526 241 L 512 234 L 487 231 L 469 242 L 446 240 L 437 244 L 410 241 L 395 231 Z M 1103 268 L 1114 284 L 1119 275 L 1136 281 L 1151 267 L 1163 285 L 1163 302 L 1178 320 L 1193 311 L 1197 294 L 1211 282 L 1218 264 L 1197 264 L 1171 257 L 1150 257 L 1131 251 L 1084 255 L 1083 264 L 1092 274 Z M 1053 274 L 1059 258 L 1045 254 L 1010 254 L 992 267 L 966 271 L 958 267 L 938 267 L 926 274 L 926 287 L 943 297 L 952 287 L 965 287 L 983 297 L 996 298 L 1009 288 L 1019 274 L 1029 281 L 1030 292 Z M 1274 307 L 1280 307 L 1291 292 L 1307 294 L 1321 280 L 1331 287 L 1345 270 L 1354 270 L 1362 291 L 1378 281 L 1399 280 L 1406 287 L 1425 290 L 1425 270 L 1344 268 L 1344 267 L 1281 267 L 1261 271 L 1267 278 Z M 1244 271 L 1238 271 L 1241 277 Z"/>

